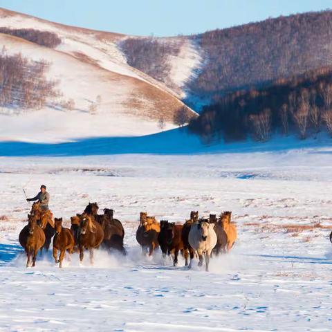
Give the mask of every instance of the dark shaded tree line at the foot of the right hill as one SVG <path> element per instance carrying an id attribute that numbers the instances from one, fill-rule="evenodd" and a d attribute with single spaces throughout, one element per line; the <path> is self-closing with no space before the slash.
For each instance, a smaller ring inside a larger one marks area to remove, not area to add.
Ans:
<path id="1" fill-rule="evenodd" d="M 216 94 L 189 128 L 203 140 L 266 141 L 272 133 L 299 138 L 332 134 L 332 67 L 279 79 L 261 89 Z"/>

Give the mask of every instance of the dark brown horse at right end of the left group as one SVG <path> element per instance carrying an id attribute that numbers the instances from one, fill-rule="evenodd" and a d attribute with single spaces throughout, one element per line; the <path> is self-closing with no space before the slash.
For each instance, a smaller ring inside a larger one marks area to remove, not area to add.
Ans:
<path id="1" fill-rule="evenodd" d="M 111 209 L 104 209 L 102 230 L 104 230 L 102 246 L 108 250 L 116 249 L 124 256 L 127 255 L 123 246 L 124 228 L 118 219 L 113 219 L 113 210 Z"/>

